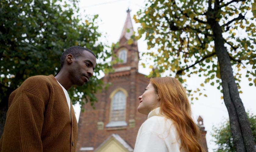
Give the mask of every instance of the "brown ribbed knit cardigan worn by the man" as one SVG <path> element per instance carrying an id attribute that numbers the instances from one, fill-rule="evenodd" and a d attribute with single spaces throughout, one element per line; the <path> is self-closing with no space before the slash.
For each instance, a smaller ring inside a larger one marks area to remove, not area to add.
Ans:
<path id="1" fill-rule="evenodd" d="M 71 104 L 72 105 L 72 104 Z M 0 152 L 75 152 L 78 125 L 53 75 L 33 76 L 9 97 Z"/>

